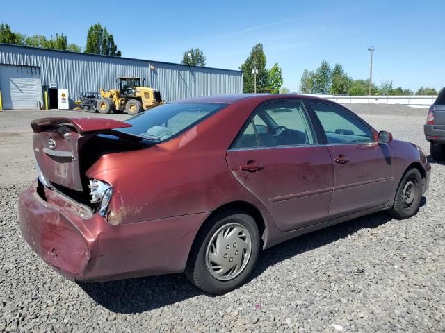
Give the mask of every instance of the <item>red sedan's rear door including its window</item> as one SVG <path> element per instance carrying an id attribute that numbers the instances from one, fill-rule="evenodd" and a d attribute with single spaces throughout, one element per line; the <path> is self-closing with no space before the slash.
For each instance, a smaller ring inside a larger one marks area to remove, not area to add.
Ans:
<path id="1" fill-rule="evenodd" d="M 259 107 L 227 151 L 234 177 L 269 210 L 280 230 L 327 219 L 332 159 L 301 101 Z"/>

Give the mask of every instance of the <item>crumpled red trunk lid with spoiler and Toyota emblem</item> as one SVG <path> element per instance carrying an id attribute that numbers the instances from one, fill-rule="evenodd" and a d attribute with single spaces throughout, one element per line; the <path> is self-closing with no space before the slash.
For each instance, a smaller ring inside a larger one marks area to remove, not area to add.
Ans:
<path id="1" fill-rule="evenodd" d="M 44 178 L 52 183 L 83 191 L 83 154 L 88 139 L 129 123 L 102 118 L 42 118 L 31 122 L 34 155 Z"/>

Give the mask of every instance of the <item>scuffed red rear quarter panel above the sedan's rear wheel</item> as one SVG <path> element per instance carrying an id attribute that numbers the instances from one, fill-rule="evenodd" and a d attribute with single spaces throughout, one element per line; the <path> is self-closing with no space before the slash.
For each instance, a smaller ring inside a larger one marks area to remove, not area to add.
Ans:
<path id="1" fill-rule="evenodd" d="M 211 212 L 225 203 L 245 201 L 267 210 L 232 176 L 226 154 L 258 102 L 229 105 L 182 135 L 141 151 L 102 156 L 87 171 L 110 183 L 114 193 L 108 221 L 136 223 Z M 270 228 L 274 228 L 272 223 Z"/>

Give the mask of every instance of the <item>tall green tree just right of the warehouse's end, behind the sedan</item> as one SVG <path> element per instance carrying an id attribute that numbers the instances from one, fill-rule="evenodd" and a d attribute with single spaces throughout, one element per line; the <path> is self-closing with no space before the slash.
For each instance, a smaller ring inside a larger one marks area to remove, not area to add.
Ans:
<path id="1" fill-rule="evenodd" d="M 254 74 L 252 71 L 257 69 L 257 92 L 264 91 L 268 87 L 268 70 L 266 69 L 266 54 L 263 51 L 263 44 L 257 44 L 252 47 L 250 56 L 239 67 L 243 71 L 243 92 L 254 92 Z"/>

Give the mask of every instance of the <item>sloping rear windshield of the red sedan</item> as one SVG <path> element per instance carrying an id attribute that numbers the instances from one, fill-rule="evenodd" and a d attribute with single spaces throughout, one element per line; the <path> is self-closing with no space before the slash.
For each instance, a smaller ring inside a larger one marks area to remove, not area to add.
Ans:
<path id="1" fill-rule="evenodd" d="M 119 131 L 155 141 L 165 141 L 224 108 L 223 103 L 168 103 L 125 121 L 132 127 Z"/>

